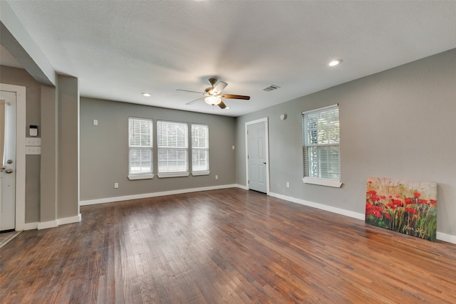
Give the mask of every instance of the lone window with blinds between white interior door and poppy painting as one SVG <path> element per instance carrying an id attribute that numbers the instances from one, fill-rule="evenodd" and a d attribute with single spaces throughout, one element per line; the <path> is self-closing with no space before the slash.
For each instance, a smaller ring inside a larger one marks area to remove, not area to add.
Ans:
<path id="1" fill-rule="evenodd" d="M 341 187 L 338 105 L 303 112 L 302 127 L 304 182 Z"/>

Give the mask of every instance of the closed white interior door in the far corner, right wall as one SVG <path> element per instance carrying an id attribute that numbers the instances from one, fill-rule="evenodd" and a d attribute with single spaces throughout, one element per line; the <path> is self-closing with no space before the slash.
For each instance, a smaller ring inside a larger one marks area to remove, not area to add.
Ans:
<path id="1" fill-rule="evenodd" d="M 247 125 L 247 170 L 249 189 L 267 193 L 266 121 Z"/>

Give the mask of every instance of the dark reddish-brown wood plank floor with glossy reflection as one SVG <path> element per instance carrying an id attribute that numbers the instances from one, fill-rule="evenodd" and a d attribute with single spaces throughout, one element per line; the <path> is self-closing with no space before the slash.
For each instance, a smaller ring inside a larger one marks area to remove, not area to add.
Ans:
<path id="1" fill-rule="evenodd" d="M 456 303 L 456 245 L 242 189 L 81 207 L 0 248 L 1 303 Z"/>

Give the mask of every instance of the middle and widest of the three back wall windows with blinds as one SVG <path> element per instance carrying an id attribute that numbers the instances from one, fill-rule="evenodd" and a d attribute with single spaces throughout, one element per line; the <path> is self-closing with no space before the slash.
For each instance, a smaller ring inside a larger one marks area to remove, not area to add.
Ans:
<path id="1" fill-rule="evenodd" d="M 157 121 L 158 177 L 188 176 L 188 126 Z"/>

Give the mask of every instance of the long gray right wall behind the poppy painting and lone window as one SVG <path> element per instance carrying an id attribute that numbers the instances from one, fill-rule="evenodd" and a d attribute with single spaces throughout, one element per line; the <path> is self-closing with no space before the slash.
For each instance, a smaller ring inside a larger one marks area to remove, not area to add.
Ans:
<path id="1" fill-rule="evenodd" d="M 301 112 L 336 103 L 343 187 L 304 184 Z M 437 230 L 455 236 L 455 115 L 453 49 L 238 117 L 236 182 L 246 184 L 245 122 L 269 117 L 271 192 L 363 214 L 368 176 L 437 182 Z"/>

